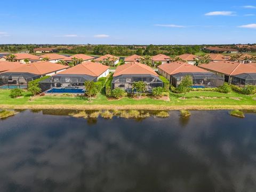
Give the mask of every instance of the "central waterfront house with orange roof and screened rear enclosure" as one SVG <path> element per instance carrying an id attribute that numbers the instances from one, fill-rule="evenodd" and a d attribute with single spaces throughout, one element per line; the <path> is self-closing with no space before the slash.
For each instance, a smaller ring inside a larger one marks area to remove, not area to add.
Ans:
<path id="1" fill-rule="evenodd" d="M 112 89 L 121 88 L 132 92 L 134 82 L 145 82 L 146 91 L 151 92 L 154 87 L 163 86 L 159 75 L 149 66 L 133 61 L 118 66 L 113 75 Z"/>

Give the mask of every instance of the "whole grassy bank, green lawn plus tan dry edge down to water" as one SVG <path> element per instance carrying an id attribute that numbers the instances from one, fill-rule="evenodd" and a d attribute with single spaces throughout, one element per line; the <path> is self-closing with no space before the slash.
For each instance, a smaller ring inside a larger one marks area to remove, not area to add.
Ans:
<path id="1" fill-rule="evenodd" d="M 17 99 L 9 97 L 10 90 L 0 90 L 0 108 L 15 109 L 156 109 L 156 110 L 191 110 L 191 109 L 256 109 L 256 95 L 243 95 L 236 92 L 219 93 L 208 91 L 194 91 L 186 94 L 170 94 L 170 101 L 154 98 L 108 100 L 99 94 L 96 99 L 89 102 L 84 97 L 68 95 L 45 95 L 33 97 L 29 92 Z"/>

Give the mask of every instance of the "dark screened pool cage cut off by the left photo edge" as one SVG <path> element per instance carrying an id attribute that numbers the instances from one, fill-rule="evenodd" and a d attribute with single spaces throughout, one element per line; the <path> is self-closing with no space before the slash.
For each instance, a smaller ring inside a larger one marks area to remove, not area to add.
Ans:
<path id="1" fill-rule="evenodd" d="M 0 74 L 0 86 L 17 86 L 18 88 L 27 88 L 28 82 L 37 78 L 41 78 L 41 75 L 31 73 L 2 73 Z"/>

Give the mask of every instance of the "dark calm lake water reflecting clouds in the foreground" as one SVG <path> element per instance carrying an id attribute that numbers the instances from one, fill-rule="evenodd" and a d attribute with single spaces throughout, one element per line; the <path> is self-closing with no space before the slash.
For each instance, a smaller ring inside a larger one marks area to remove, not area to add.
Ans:
<path id="1" fill-rule="evenodd" d="M 52 115 L 51 115 L 52 114 Z M 0 191 L 256 191 L 256 115 L 0 121 Z"/>

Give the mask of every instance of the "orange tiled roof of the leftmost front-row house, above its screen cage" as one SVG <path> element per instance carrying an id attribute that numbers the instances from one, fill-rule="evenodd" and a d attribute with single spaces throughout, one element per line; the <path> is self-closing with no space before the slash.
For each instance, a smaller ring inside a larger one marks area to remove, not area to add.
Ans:
<path id="1" fill-rule="evenodd" d="M 62 69 L 67 69 L 68 66 L 63 66 L 49 61 L 38 61 L 28 64 L 22 64 L 21 67 L 8 70 L 8 73 L 31 73 L 36 75 L 45 75 Z"/>

